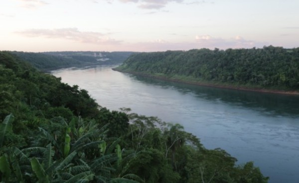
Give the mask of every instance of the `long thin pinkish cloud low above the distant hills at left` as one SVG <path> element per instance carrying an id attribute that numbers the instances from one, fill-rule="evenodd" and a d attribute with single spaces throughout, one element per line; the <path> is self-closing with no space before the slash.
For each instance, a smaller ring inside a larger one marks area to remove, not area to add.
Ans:
<path id="1" fill-rule="evenodd" d="M 59 38 L 93 44 L 119 44 L 121 42 L 107 37 L 107 34 L 100 32 L 82 32 L 77 28 L 29 29 L 16 33 L 27 37 Z"/>

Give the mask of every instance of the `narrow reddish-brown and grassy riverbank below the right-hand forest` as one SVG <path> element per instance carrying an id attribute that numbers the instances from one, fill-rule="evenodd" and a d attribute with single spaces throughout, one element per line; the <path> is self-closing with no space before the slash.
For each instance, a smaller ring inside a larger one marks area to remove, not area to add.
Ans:
<path id="1" fill-rule="evenodd" d="M 141 75 L 149 78 L 162 79 L 165 81 L 179 82 L 179 83 L 192 84 L 198 86 L 207 86 L 207 87 L 225 88 L 225 89 L 232 89 L 232 90 L 243 90 L 243 91 L 261 92 L 261 93 L 273 93 L 273 94 L 280 94 L 280 95 L 299 95 L 299 91 L 284 91 L 284 90 L 265 89 L 265 88 L 251 88 L 246 86 L 234 86 L 229 84 L 218 84 L 218 83 L 214 84 L 214 83 L 207 83 L 207 82 L 187 81 L 182 79 L 169 78 L 162 75 L 157 76 L 157 75 L 150 75 L 141 72 L 122 71 L 117 68 L 112 68 L 112 70 L 129 73 L 129 74 Z"/>

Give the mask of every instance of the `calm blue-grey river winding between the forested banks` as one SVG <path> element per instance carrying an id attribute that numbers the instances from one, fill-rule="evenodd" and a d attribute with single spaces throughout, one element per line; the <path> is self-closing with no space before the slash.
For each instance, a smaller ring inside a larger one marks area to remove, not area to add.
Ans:
<path id="1" fill-rule="evenodd" d="M 208 149 L 254 161 L 270 183 L 299 183 L 299 97 L 200 87 L 124 74 L 113 66 L 53 71 L 111 110 L 182 124 Z"/>

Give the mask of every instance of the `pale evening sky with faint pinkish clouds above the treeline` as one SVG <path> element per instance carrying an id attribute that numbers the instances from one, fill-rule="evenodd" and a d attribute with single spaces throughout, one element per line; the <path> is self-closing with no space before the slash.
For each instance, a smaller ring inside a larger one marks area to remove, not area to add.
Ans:
<path id="1" fill-rule="evenodd" d="M 299 47 L 299 0 L 0 0 L 0 50 Z"/>

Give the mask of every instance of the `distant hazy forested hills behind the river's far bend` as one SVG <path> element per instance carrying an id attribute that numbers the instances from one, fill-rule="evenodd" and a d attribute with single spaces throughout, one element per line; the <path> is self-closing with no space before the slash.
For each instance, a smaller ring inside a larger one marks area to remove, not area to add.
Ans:
<path id="1" fill-rule="evenodd" d="M 67 67 L 120 64 L 133 52 L 57 51 L 32 53 L 12 51 L 11 53 L 41 71 L 50 71 Z"/>

